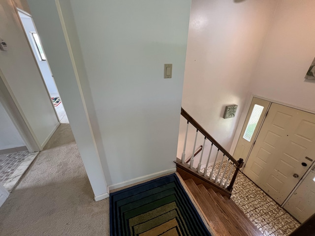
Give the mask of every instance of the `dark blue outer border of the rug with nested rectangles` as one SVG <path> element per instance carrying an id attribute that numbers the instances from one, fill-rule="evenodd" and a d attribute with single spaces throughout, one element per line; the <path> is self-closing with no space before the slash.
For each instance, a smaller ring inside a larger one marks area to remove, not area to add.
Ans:
<path id="1" fill-rule="evenodd" d="M 158 177 L 156 179 L 152 179 L 150 181 L 147 181 L 147 182 L 144 182 L 144 183 L 141 183 L 141 184 L 138 184 L 138 185 L 135 185 L 135 186 L 132 186 L 132 187 L 129 187 L 129 188 L 117 191 L 115 193 L 110 193 L 110 197 L 109 197 L 109 204 L 110 204 L 110 235 L 111 236 L 116 236 L 116 234 L 115 234 L 116 231 L 113 228 L 114 225 L 115 225 L 115 220 L 114 219 L 115 219 L 115 217 L 117 217 L 116 216 L 116 212 L 115 212 L 115 207 L 114 207 L 114 203 L 115 203 L 114 198 L 115 198 L 116 195 L 123 194 L 124 192 L 130 191 L 130 190 L 135 191 L 137 188 L 141 188 L 141 187 L 143 187 L 145 185 L 150 186 L 154 182 L 158 182 L 158 181 L 160 181 L 160 180 L 162 180 L 164 178 L 171 178 L 171 177 L 174 178 L 174 180 L 175 180 L 175 182 L 177 184 L 177 187 L 178 187 L 179 191 L 181 192 L 181 194 L 183 196 L 183 200 L 185 199 L 184 201 L 188 203 L 187 207 L 190 209 L 191 213 L 193 213 L 194 217 L 196 218 L 196 221 L 199 223 L 198 225 L 201 227 L 201 228 L 198 228 L 199 231 L 203 231 L 204 232 L 204 236 L 211 236 L 210 232 L 208 231 L 207 227 L 205 226 L 204 222 L 202 221 L 198 211 L 196 210 L 196 208 L 192 204 L 192 202 L 191 202 L 187 192 L 185 191 L 184 187 L 182 186 L 182 183 L 180 182 L 180 180 L 178 179 L 178 177 L 177 177 L 177 175 L 175 173 L 167 175 L 167 176 L 163 176 L 163 177 Z M 152 186 L 154 186 L 154 184 Z"/>

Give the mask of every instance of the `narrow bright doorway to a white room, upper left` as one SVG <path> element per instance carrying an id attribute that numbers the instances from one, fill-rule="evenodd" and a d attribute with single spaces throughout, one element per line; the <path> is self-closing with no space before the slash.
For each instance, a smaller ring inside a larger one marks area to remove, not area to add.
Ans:
<path id="1" fill-rule="evenodd" d="M 32 16 L 20 9 L 17 9 L 17 11 L 24 32 L 30 43 L 33 56 L 42 75 L 47 92 L 52 100 L 52 104 L 54 106 L 57 117 L 59 118 L 59 121 L 61 123 L 68 123 L 69 121 L 63 107 L 62 99 L 56 87 L 54 76 L 51 73 L 49 63 L 48 60 L 46 59 L 45 52 L 41 45 L 39 35 L 37 34 L 36 27 L 32 20 Z"/>

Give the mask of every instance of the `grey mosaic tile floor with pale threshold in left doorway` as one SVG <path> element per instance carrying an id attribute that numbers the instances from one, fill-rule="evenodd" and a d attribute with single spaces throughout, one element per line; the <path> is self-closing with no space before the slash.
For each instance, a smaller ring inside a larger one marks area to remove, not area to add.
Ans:
<path id="1" fill-rule="evenodd" d="M 0 182 L 11 192 L 38 152 L 19 151 L 0 155 Z"/>

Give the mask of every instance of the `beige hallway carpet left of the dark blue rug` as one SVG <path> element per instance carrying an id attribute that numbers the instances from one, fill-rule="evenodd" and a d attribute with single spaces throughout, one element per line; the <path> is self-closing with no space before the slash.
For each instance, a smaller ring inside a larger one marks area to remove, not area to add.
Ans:
<path id="1" fill-rule="evenodd" d="M 0 207 L 0 235 L 109 235 L 109 199 L 93 198 L 70 125 L 63 123 Z"/>

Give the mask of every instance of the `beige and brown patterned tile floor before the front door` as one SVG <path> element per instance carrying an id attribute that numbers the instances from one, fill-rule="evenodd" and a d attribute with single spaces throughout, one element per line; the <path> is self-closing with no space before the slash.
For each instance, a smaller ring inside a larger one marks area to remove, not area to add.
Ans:
<path id="1" fill-rule="evenodd" d="M 215 166 L 215 175 L 219 170 L 219 165 L 220 163 Z M 219 179 L 222 176 L 225 165 L 226 161 L 222 164 Z M 202 172 L 203 170 L 204 169 L 202 169 Z M 210 173 L 211 170 L 212 166 L 209 166 L 208 173 Z M 229 170 L 230 165 L 226 173 L 229 173 Z M 225 174 L 224 177 L 226 176 L 227 174 Z M 223 180 L 223 183 L 224 182 L 225 178 Z M 239 173 L 236 177 L 231 199 L 243 210 L 264 236 L 287 236 L 300 226 L 298 221 L 243 173 Z"/>

